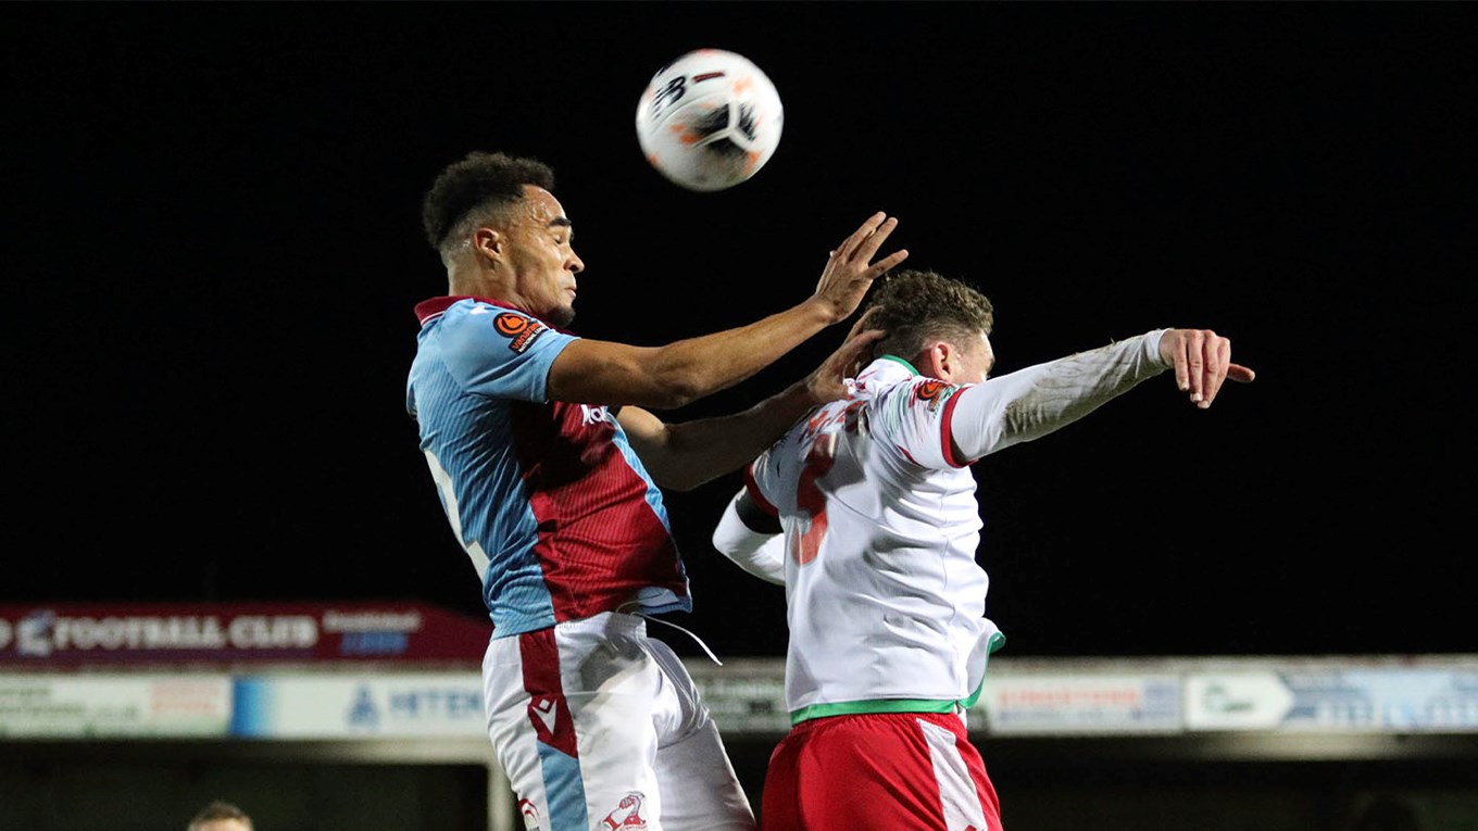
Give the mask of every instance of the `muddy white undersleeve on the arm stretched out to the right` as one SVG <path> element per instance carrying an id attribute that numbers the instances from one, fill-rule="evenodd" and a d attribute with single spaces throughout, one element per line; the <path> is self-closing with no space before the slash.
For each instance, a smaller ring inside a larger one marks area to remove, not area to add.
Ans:
<path id="1" fill-rule="evenodd" d="M 952 438 L 974 460 L 1072 424 L 1163 373 L 1160 337 L 1156 330 L 961 390 Z"/>

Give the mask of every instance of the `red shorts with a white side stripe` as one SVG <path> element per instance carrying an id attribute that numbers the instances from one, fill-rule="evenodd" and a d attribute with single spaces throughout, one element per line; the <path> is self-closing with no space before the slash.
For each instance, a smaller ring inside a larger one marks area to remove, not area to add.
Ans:
<path id="1" fill-rule="evenodd" d="M 770 754 L 764 831 L 1002 831 L 965 725 L 944 713 L 811 719 Z"/>

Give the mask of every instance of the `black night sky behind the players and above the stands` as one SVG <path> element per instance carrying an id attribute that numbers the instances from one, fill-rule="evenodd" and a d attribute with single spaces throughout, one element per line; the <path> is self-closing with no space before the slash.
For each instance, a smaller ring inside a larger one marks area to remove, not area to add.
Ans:
<path id="1" fill-rule="evenodd" d="M 863 217 L 998 308 L 998 373 L 1162 325 L 1259 374 L 1156 379 L 975 467 L 1007 655 L 1478 651 L 1469 3 L 18 3 L 0 35 L 0 603 L 411 599 L 482 614 L 403 410 L 445 291 L 420 198 L 537 155 L 575 330 L 659 345 L 804 299 Z M 636 102 L 754 59 L 779 151 L 661 179 Z M 672 418 L 746 407 L 823 333 Z M 670 512 L 720 657 L 783 594 Z M 681 637 L 674 646 L 695 654 Z"/>

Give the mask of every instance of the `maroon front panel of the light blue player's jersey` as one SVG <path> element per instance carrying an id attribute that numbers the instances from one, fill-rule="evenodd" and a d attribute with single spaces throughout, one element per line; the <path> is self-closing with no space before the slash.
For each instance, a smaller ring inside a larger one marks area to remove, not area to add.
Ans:
<path id="1" fill-rule="evenodd" d="M 622 455 L 607 408 L 526 404 L 511 414 L 554 620 L 616 611 L 650 586 L 686 597 L 677 544 L 647 504 L 649 481 Z"/>

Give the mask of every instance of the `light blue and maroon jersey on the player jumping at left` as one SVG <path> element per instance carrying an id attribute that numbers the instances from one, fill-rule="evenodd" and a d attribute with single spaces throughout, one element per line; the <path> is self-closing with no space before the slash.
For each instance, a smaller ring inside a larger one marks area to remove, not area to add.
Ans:
<path id="1" fill-rule="evenodd" d="M 406 410 L 494 636 L 599 612 L 690 611 L 662 494 L 605 405 L 548 401 L 576 336 L 477 297 L 435 297 Z"/>

